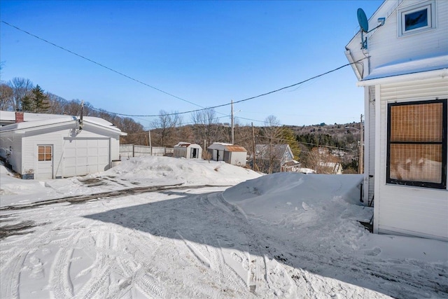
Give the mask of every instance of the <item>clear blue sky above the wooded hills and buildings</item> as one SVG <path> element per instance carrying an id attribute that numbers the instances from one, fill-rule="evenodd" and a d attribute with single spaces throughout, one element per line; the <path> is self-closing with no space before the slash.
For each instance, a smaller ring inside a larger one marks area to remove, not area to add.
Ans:
<path id="1" fill-rule="evenodd" d="M 1 81 L 30 79 L 98 109 L 157 115 L 237 102 L 340 67 L 344 46 L 382 1 L 8 1 L 1 20 L 138 81 L 0 23 Z M 191 104 L 192 102 L 194 104 Z M 351 67 L 235 104 L 238 123 L 351 123 L 363 89 Z M 230 106 L 216 109 L 230 122 Z M 243 118 L 248 118 L 246 120 Z M 151 117 L 135 118 L 149 127 Z M 190 123 L 190 114 L 183 123 Z"/>

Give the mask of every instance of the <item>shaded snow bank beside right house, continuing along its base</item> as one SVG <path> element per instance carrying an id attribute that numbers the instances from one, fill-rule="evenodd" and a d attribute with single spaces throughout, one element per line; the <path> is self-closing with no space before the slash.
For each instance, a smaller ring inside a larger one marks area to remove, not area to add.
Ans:
<path id="1" fill-rule="evenodd" d="M 306 246 L 316 253 L 448 265 L 447 242 L 374 235 L 365 230 L 358 221 L 370 221 L 373 208 L 360 203 L 362 180 L 363 175 L 359 174 L 285 172 L 240 183 L 225 190 L 223 197 L 251 221 L 269 224 L 276 235 L 295 239 L 297 246 Z"/>

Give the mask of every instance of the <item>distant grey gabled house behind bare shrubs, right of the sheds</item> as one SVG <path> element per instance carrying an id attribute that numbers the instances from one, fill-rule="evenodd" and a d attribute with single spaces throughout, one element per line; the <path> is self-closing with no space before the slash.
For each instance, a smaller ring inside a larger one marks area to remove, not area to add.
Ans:
<path id="1" fill-rule="evenodd" d="M 255 162 L 261 172 L 274 173 L 288 169 L 287 163 L 293 162 L 294 155 L 289 144 L 255 144 Z M 298 162 L 297 162 L 298 163 Z M 290 163 L 290 169 L 296 167 Z M 298 165 L 297 168 L 300 168 Z"/>

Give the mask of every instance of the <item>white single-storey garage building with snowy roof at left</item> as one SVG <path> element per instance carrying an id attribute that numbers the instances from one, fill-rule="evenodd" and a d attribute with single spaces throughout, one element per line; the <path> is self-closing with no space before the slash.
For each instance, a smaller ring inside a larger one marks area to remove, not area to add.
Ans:
<path id="1" fill-rule="evenodd" d="M 119 160 L 120 136 L 95 117 L 0 112 L 0 156 L 23 179 L 57 179 L 102 172 Z M 8 124 L 9 123 L 9 124 Z"/>

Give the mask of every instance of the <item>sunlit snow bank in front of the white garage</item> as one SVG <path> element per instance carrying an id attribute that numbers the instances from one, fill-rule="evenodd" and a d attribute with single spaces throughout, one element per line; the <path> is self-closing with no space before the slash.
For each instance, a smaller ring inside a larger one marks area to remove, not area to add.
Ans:
<path id="1" fill-rule="evenodd" d="M 68 179 L 22 180 L 8 174 L 2 165 L 0 207 L 144 186 L 233 186 L 260 176 L 225 162 L 155 156 L 130 158 L 106 172 Z"/>

